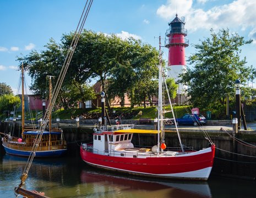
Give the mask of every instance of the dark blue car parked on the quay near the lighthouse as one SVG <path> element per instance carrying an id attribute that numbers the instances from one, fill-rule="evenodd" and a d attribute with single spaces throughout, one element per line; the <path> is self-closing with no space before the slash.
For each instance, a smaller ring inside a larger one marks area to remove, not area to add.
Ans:
<path id="1" fill-rule="evenodd" d="M 178 125 L 202 125 L 206 123 L 206 118 L 201 114 L 184 114 L 181 118 L 177 118 Z"/>

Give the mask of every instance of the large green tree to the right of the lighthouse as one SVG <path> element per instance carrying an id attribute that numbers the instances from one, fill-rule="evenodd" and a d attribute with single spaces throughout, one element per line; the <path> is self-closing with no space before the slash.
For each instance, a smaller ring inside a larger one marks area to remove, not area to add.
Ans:
<path id="1" fill-rule="evenodd" d="M 186 73 L 181 82 L 188 85 L 187 93 L 194 106 L 218 109 L 225 104 L 226 94 L 234 93 L 234 82 L 244 84 L 252 73 L 246 66 L 246 57 L 240 58 L 240 47 L 251 43 L 237 33 L 230 34 L 221 29 L 216 34 L 211 29 L 211 37 L 194 45 L 197 52 L 189 57 Z"/>

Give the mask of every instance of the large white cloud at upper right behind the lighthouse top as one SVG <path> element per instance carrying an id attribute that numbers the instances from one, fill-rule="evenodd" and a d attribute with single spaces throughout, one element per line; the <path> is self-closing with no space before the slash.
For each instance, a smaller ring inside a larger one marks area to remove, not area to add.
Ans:
<path id="1" fill-rule="evenodd" d="M 177 3 L 178 2 L 178 3 Z M 203 2 L 200 0 L 199 2 Z M 208 10 L 196 9 L 193 7 L 192 0 L 168 0 L 165 5 L 157 9 L 157 14 L 170 21 L 175 17 L 176 8 L 178 17 L 186 17 L 186 28 L 189 31 L 198 29 L 220 29 L 220 28 L 239 28 L 246 30 L 256 28 L 255 10 L 256 1 L 237 0 L 229 4 L 215 6 Z M 255 35 L 254 35 L 255 36 Z"/>

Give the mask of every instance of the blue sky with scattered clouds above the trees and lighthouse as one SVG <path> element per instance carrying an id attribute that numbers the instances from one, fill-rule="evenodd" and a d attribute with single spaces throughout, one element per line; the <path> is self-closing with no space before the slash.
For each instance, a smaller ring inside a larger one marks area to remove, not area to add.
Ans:
<path id="1" fill-rule="evenodd" d="M 20 72 L 17 57 L 31 50 L 40 52 L 50 40 L 59 42 L 63 34 L 74 31 L 85 0 L 0 0 L 0 83 L 11 86 L 16 93 Z M 159 49 L 159 36 L 165 37 L 168 22 L 185 17 L 186 59 L 193 45 L 228 28 L 253 43 L 242 47 L 241 58 L 256 67 L 256 1 L 255 0 L 94 0 L 85 29 L 116 34 L 123 39 L 138 38 Z M 164 45 L 164 41 L 162 41 Z M 168 50 L 163 47 L 167 61 Z M 28 85 L 31 78 L 25 75 Z M 256 86 L 251 83 L 250 86 Z"/>

